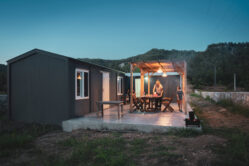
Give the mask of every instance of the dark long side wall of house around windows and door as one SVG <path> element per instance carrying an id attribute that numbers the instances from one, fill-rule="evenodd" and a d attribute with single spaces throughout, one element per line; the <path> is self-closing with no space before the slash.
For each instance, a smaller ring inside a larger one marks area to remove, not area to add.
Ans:
<path id="1" fill-rule="evenodd" d="M 70 89 L 71 89 L 71 103 L 73 117 L 84 116 L 90 112 L 97 112 L 98 108 L 96 105 L 97 101 L 102 100 L 102 71 L 109 72 L 110 76 L 110 100 L 120 100 L 121 96 L 117 96 L 117 76 L 124 74 L 118 74 L 112 70 L 108 70 L 103 67 L 91 65 L 84 62 L 79 62 L 76 60 L 70 60 Z M 75 70 L 76 68 L 89 70 L 89 99 L 75 99 Z M 124 82 L 124 81 L 123 81 Z M 124 83 L 123 83 L 124 89 Z"/>

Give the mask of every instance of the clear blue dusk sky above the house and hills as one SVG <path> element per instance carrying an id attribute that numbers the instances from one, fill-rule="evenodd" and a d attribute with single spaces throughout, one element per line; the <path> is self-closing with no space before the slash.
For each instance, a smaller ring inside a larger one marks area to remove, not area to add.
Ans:
<path id="1" fill-rule="evenodd" d="M 120 59 L 249 41 L 249 0 L 0 0 L 0 63 L 33 48 Z"/>

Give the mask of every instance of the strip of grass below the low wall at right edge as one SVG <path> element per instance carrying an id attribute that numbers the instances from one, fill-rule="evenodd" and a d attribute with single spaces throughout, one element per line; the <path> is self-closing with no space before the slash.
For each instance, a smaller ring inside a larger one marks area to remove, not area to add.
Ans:
<path id="1" fill-rule="evenodd" d="M 232 113 L 249 117 L 249 108 L 240 104 L 236 104 L 232 100 L 220 100 L 217 102 L 217 104 L 227 108 Z"/>

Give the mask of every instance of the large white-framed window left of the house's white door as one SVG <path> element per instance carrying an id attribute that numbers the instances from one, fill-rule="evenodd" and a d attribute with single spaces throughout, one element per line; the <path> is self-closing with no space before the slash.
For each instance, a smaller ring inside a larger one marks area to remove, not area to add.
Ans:
<path id="1" fill-rule="evenodd" d="M 89 98 L 89 71 L 76 69 L 75 71 L 75 97 L 76 99 Z"/>

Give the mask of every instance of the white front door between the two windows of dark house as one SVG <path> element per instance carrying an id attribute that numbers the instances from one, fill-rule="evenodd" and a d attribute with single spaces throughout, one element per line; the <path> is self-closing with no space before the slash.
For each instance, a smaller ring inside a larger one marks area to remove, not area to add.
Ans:
<path id="1" fill-rule="evenodd" d="M 102 72 L 103 75 L 103 87 L 102 87 L 102 100 L 110 100 L 110 74 L 108 72 Z M 109 108 L 109 105 L 104 104 L 104 109 Z"/>

